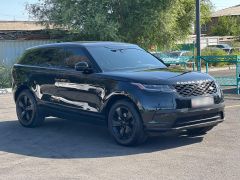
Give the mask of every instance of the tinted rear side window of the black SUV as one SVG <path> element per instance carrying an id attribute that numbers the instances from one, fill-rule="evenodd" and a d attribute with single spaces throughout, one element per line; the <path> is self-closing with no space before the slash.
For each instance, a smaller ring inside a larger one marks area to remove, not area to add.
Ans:
<path id="1" fill-rule="evenodd" d="M 42 48 L 29 50 L 20 60 L 21 64 L 63 67 L 63 48 Z"/>

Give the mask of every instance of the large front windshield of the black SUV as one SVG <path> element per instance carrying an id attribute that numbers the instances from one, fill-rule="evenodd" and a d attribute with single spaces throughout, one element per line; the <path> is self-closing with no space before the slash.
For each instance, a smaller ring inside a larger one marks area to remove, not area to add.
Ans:
<path id="1" fill-rule="evenodd" d="M 157 69 L 166 66 L 139 47 L 87 47 L 103 71 Z"/>

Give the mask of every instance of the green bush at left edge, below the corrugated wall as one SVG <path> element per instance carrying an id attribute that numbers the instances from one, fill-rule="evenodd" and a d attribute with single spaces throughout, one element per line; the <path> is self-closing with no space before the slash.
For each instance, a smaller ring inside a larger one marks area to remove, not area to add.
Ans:
<path id="1" fill-rule="evenodd" d="M 0 65 L 0 89 L 10 88 L 12 83 L 11 68 Z"/>

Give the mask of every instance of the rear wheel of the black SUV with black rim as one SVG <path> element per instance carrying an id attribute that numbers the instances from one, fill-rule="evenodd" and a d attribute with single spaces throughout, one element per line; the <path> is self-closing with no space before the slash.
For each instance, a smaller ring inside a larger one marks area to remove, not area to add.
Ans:
<path id="1" fill-rule="evenodd" d="M 18 121 L 24 127 L 40 126 L 45 119 L 37 106 L 34 95 L 29 90 L 23 90 L 17 97 L 16 111 Z"/>

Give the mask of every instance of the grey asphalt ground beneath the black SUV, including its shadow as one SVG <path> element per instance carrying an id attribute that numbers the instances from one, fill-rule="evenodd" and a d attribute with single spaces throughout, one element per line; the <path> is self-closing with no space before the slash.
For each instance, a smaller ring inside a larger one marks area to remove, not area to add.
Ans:
<path id="1" fill-rule="evenodd" d="M 106 128 L 48 119 L 21 127 L 10 95 L 0 95 L 0 179 L 239 179 L 240 100 L 203 137 L 154 137 L 121 147 Z"/>

